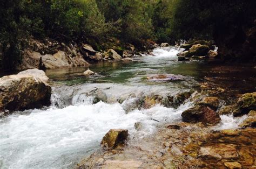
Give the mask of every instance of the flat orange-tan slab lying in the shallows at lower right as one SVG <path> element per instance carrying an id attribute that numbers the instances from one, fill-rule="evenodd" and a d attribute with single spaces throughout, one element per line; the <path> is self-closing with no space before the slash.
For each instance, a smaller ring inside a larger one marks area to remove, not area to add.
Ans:
<path id="1" fill-rule="evenodd" d="M 205 159 L 238 159 L 239 154 L 232 144 L 215 144 L 201 147 L 199 157 Z"/>

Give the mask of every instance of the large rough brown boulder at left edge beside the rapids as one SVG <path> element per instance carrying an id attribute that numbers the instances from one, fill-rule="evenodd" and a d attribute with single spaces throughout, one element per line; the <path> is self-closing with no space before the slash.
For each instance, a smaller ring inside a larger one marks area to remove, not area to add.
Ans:
<path id="1" fill-rule="evenodd" d="M 29 71 L 28 71 L 29 72 Z M 50 104 L 51 87 L 38 76 L 18 74 L 0 79 L 0 111 L 40 108 Z"/>

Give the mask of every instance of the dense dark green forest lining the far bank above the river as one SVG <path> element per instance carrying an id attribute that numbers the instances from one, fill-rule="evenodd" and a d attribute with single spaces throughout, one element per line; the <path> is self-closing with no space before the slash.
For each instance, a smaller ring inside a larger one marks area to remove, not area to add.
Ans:
<path id="1" fill-rule="evenodd" d="M 110 39 L 137 48 L 146 41 L 207 39 L 228 59 L 252 59 L 255 8 L 253 0 L 2 0 L 0 63 L 13 68 L 30 38 L 45 37 L 97 50 Z"/>

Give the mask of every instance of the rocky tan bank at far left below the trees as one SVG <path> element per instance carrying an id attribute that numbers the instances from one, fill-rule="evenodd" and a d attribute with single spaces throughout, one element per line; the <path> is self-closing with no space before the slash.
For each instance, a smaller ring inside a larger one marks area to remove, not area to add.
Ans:
<path id="1" fill-rule="evenodd" d="M 125 47 L 115 45 L 105 51 L 96 51 L 89 44 L 65 44 L 49 38 L 41 41 L 30 39 L 16 69 L 22 71 L 32 68 L 89 67 L 90 63 L 98 61 L 132 61 L 129 58 L 133 57 L 135 50 L 131 44 Z"/>

